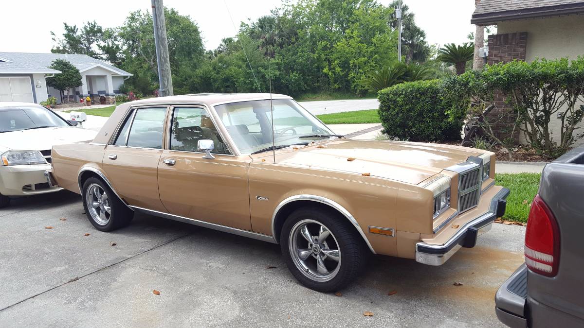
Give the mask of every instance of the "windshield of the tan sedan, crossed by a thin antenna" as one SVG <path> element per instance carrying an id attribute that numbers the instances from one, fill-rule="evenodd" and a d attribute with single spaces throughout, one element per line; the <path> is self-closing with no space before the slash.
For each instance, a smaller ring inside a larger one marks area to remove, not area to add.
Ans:
<path id="1" fill-rule="evenodd" d="M 333 134 L 326 125 L 292 99 L 274 99 L 272 104 L 273 113 L 270 113 L 270 100 L 215 106 L 217 115 L 242 153 L 257 152 L 272 146 L 272 116 L 276 147 L 308 144 Z"/>

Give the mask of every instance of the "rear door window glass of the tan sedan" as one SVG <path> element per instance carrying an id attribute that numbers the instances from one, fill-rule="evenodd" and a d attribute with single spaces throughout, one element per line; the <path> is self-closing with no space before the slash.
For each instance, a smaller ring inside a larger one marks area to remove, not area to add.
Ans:
<path id="1" fill-rule="evenodd" d="M 162 149 L 165 113 L 166 107 L 136 109 L 134 116 L 128 116 L 114 145 Z"/>

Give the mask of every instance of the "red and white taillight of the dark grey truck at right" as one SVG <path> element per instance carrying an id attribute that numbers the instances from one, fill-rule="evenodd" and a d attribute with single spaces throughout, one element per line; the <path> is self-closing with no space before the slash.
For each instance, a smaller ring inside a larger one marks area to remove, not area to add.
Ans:
<path id="1" fill-rule="evenodd" d="M 554 214 L 539 195 L 533 199 L 525 232 L 525 264 L 547 277 L 558 273 L 559 229 Z"/>

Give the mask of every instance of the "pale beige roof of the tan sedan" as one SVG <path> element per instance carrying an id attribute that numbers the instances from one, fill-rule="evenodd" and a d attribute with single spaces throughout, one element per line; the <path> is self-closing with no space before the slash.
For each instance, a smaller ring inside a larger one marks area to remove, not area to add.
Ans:
<path id="1" fill-rule="evenodd" d="M 167 96 L 136 100 L 129 104 L 189 103 L 199 102 L 213 106 L 220 103 L 244 102 L 246 100 L 270 99 L 270 93 L 193 93 L 191 95 Z M 292 99 L 290 96 L 272 93 L 272 99 Z"/>

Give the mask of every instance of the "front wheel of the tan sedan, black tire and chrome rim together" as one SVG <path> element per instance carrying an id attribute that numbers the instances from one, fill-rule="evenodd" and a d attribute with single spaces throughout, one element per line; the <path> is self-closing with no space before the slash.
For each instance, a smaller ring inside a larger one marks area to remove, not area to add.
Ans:
<path id="1" fill-rule="evenodd" d="M 352 225 L 333 211 L 300 208 L 284 222 L 280 246 L 291 273 L 315 291 L 338 291 L 363 270 L 370 255 Z"/>

